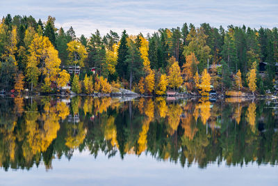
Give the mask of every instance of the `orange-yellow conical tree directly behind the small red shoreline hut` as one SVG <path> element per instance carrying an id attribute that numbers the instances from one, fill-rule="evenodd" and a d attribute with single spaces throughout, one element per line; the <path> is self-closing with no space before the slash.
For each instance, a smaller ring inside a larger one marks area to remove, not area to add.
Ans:
<path id="1" fill-rule="evenodd" d="M 183 83 L 181 69 L 179 68 L 179 63 L 177 61 L 175 61 L 170 67 L 168 82 L 170 88 L 179 88 L 179 86 Z"/>

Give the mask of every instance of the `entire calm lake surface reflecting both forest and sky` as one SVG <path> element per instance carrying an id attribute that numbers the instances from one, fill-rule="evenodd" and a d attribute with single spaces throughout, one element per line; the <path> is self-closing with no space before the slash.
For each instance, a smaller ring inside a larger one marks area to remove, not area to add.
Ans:
<path id="1" fill-rule="evenodd" d="M 277 107 L 0 98 L 0 185 L 278 185 Z"/>

